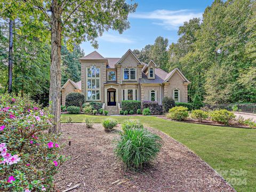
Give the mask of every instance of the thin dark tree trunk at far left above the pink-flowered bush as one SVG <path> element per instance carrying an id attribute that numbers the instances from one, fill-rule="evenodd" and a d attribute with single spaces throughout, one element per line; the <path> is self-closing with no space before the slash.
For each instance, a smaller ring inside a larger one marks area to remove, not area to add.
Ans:
<path id="1" fill-rule="evenodd" d="M 13 20 L 9 21 L 8 93 L 12 92 Z"/>

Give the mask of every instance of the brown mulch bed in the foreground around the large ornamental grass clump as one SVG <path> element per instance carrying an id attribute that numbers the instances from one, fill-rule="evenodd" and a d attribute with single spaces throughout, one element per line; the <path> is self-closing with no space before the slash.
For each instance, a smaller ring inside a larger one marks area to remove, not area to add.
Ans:
<path id="1" fill-rule="evenodd" d="M 113 153 L 119 125 L 109 133 L 101 124 L 92 129 L 83 123 L 62 124 L 61 129 L 61 154 L 70 159 L 54 176 L 56 191 L 77 184 L 71 191 L 235 191 L 202 159 L 161 131 L 148 128 L 163 139 L 163 148 L 150 166 L 133 172 Z"/>

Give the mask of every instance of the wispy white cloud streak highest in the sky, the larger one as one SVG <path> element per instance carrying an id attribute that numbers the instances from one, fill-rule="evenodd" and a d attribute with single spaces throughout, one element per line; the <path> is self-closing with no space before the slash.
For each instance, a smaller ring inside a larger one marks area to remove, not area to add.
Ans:
<path id="1" fill-rule="evenodd" d="M 202 18 L 202 14 L 194 13 L 191 10 L 155 10 L 152 12 L 133 13 L 130 18 L 158 20 L 159 22 L 153 22 L 153 24 L 161 25 L 167 30 L 176 30 L 189 19 Z"/>

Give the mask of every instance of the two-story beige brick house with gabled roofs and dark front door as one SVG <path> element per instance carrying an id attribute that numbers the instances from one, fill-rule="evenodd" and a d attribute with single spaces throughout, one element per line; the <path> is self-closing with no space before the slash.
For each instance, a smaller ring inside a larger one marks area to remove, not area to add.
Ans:
<path id="1" fill-rule="evenodd" d="M 122 100 L 157 101 L 165 96 L 175 102 L 188 101 L 188 79 L 178 68 L 170 73 L 151 60 L 141 62 L 128 50 L 122 58 L 104 58 L 97 51 L 79 59 L 81 81 L 62 86 L 62 105 L 70 92 L 82 92 L 86 102 L 101 102 L 110 114 L 118 114 Z"/>

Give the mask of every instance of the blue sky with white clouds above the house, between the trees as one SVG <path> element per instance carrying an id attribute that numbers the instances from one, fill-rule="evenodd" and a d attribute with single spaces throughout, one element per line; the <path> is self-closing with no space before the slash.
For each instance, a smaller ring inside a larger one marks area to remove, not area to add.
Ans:
<path id="1" fill-rule="evenodd" d="M 130 2 L 129 0 L 127 2 Z M 147 44 L 154 44 L 157 36 L 177 42 L 177 31 L 184 21 L 194 17 L 202 18 L 206 6 L 213 0 L 135 0 L 138 8 L 129 15 L 130 29 L 119 34 L 106 31 L 98 38 L 98 51 L 103 57 L 122 57 L 128 50 L 141 50 Z M 89 42 L 81 44 L 86 54 L 94 51 Z"/>

